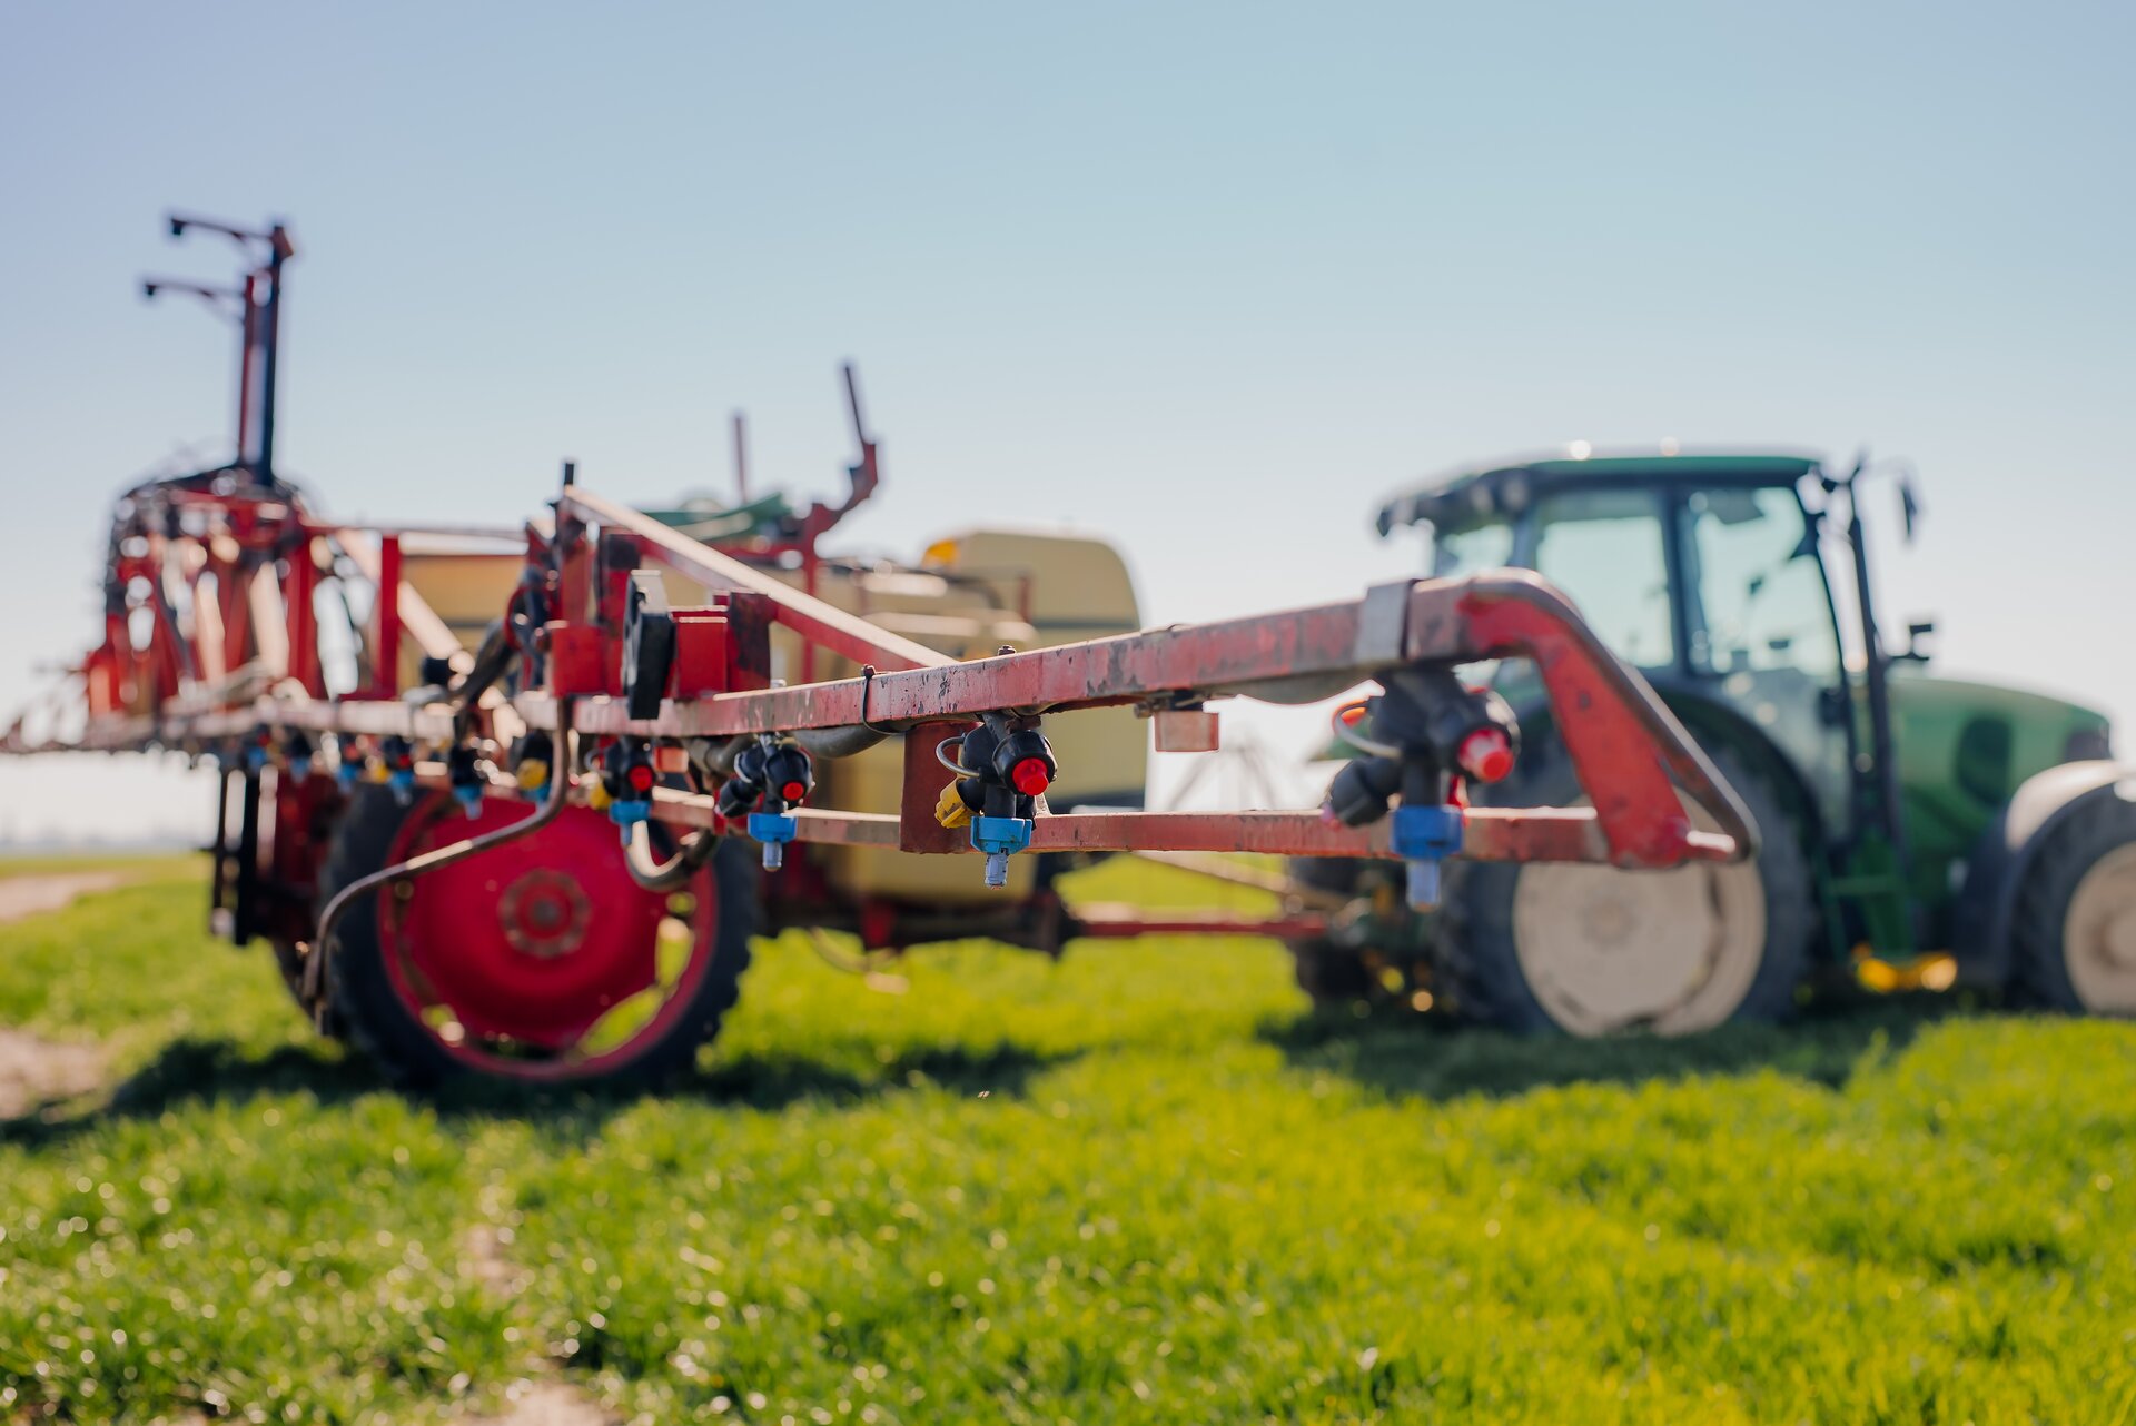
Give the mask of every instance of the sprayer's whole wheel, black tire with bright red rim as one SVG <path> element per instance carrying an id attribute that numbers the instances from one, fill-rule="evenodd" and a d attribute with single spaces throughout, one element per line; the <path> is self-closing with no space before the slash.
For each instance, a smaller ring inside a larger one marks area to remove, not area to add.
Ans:
<path id="1" fill-rule="evenodd" d="M 363 788 L 335 828 L 320 905 L 357 877 L 528 815 L 489 798 L 470 820 L 444 792 L 402 807 Z M 609 820 L 566 807 L 519 841 L 359 899 L 327 984 L 350 1044 L 395 1082 L 658 1082 L 735 1005 L 752 924 L 754 877 L 731 847 L 684 892 L 647 892 Z"/>

